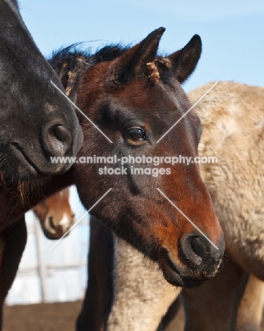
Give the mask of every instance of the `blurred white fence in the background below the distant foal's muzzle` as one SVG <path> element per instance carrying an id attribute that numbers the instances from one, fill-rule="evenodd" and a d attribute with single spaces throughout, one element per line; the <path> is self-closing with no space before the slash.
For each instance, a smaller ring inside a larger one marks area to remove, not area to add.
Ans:
<path id="1" fill-rule="evenodd" d="M 76 221 L 85 213 L 75 187 L 70 190 L 70 203 Z M 52 250 L 54 240 L 44 237 L 40 223 L 30 211 L 26 214 L 28 242 L 18 274 L 6 303 L 30 304 L 74 301 L 83 298 L 87 282 L 89 216 Z"/>

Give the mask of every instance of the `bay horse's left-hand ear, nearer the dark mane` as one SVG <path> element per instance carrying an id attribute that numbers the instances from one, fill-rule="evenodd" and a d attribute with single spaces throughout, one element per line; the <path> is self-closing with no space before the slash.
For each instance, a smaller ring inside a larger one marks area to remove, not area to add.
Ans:
<path id="1" fill-rule="evenodd" d="M 164 33 L 164 28 L 152 31 L 142 42 L 131 47 L 119 59 L 114 62 L 114 68 L 110 69 L 114 81 L 126 83 L 133 77 L 143 74 L 146 64 L 152 62 L 157 54 L 160 38 Z"/>

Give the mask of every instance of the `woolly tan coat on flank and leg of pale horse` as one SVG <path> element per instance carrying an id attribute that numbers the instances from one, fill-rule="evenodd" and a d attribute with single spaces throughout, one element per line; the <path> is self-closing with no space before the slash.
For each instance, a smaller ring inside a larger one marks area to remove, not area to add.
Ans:
<path id="1" fill-rule="evenodd" d="M 191 102 L 212 84 L 188 93 Z M 218 163 L 200 163 L 200 171 L 223 228 L 227 252 L 247 272 L 264 280 L 264 88 L 220 82 L 195 110 L 203 125 L 199 155 L 218 159 Z M 176 127 L 170 134 L 176 134 Z M 157 267 L 146 264 L 142 255 L 121 240 L 116 241 L 115 254 L 115 297 L 107 330 L 155 331 L 179 290 L 168 286 Z M 241 327 L 255 318 L 248 309 L 253 300 L 250 286 L 248 282 L 239 310 Z M 258 323 L 263 296 L 259 295 L 259 301 Z"/>

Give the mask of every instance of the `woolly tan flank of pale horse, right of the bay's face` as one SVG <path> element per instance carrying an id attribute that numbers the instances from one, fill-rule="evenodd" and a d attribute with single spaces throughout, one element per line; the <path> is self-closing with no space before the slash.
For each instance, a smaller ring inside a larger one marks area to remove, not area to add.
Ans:
<path id="1" fill-rule="evenodd" d="M 188 94 L 191 102 L 212 86 Z M 200 164 L 227 251 L 264 280 L 264 88 L 221 82 L 195 108 L 203 124 Z"/>

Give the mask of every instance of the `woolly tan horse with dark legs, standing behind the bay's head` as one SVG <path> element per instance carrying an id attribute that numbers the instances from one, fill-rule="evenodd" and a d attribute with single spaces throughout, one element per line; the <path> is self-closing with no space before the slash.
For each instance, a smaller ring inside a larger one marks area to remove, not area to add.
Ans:
<path id="1" fill-rule="evenodd" d="M 191 101 L 210 86 L 188 93 Z M 199 166 L 227 249 L 214 278 L 196 289 L 181 291 L 185 328 L 177 318 L 179 291 L 157 278 L 158 266 L 146 265 L 142 254 L 116 240 L 92 218 L 88 288 L 78 331 L 155 331 L 158 326 L 159 331 L 260 330 L 264 304 L 263 95 L 264 88 L 220 82 L 196 105 L 203 126 L 199 155 L 218 158 L 218 163 Z"/>

